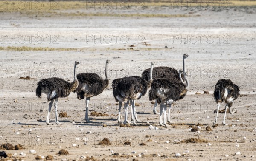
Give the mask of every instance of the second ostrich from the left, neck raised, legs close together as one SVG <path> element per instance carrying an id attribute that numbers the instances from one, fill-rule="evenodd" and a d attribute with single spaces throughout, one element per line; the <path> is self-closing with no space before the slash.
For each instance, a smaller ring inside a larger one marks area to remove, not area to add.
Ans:
<path id="1" fill-rule="evenodd" d="M 106 61 L 106 66 L 105 66 L 105 76 L 106 78 L 103 80 L 98 74 L 95 73 L 80 73 L 77 74 L 77 79 L 79 81 L 78 88 L 74 91 L 77 93 L 77 98 L 79 100 L 84 99 L 85 100 L 85 105 L 86 105 L 86 112 L 85 112 L 85 121 L 87 123 L 91 123 L 89 120 L 88 116 L 88 105 L 90 98 L 93 96 L 97 96 L 100 93 L 103 92 L 105 88 L 108 87 L 109 84 L 109 79 L 107 75 L 107 70 L 108 70 L 108 64 L 110 63 L 110 60 Z"/>

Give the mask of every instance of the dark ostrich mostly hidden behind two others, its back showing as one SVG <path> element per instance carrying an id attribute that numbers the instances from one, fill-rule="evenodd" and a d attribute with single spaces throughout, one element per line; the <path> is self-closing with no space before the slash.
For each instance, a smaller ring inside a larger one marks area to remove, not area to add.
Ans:
<path id="1" fill-rule="evenodd" d="M 183 64 L 183 66 L 184 66 L 184 64 Z M 145 69 L 145 71 L 143 71 L 141 77 L 148 81 L 149 80 L 149 72 L 150 72 L 150 68 Z M 180 79 L 180 77 L 179 77 L 179 72 L 174 68 L 163 67 L 163 66 L 154 67 L 152 75 L 153 75 L 152 76 L 153 79 L 169 78 L 169 79 L 175 79 L 177 81 L 181 81 L 184 84 L 183 80 Z M 183 76 L 182 76 L 182 78 L 183 78 Z M 153 109 L 154 114 L 159 114 L 159 113 L 157 113 L 157 102 L 159 102 L 159 101 L 155 100 L 154 109 Z"/>

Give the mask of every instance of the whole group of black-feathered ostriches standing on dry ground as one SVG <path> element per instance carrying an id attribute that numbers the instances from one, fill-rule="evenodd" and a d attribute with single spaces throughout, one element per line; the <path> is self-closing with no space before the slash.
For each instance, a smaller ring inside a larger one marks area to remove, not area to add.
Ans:
<path id="1" fill-rule="evenodd" d="M 189 81 L 187 79 L 185 60 L 189 55 L 183 55 L 183 71 L 177 71 L 170 67 L 154 67 L 156 62 L 151 62 L 151 68 L 143 71 L 140 76 L 125 76 L 123 78 L 114 79 L 112 82 L 113 96 L 116 102 L 119 102 L 119 113 L 118 113 L 118 123 L 121 122 L 121 108 L 122 102 L 124 102 L 124 124 L 130 123 L 128 121 L 128 107 L 131 106 L 131 121 L 136 125 L 137 118 L 135 100 L 139 100 L 144 96 L 149 90 L 149 100 L 155 101 L 153 113 L 160 114 L 160 126 L 168 126 L 166 124 L 166 109 L 168 106 L 167 122 L 170 121 L 170 109 L 172 108 L 172 103 L 177 100 L 183 99 L 189 90 Z M 86 112 L 85 121 L 90 123 L 88 117 L 88 105 L 90 98 L 97 96 L 103 92 L 105 88 L 109 85 L 109 79 L 107 75 L 109 60 L 106 61 L 105 66 L 105 79 L 102 79 L 96 73 L 79 73 L 76 75 L 76 66 L 79 62 L 75 62 L 74 66 L 74 80 L 73 82 L 67 82 L 61 78 L 47 78 L 41 79 L 37 83 L 36 96 L 41 98 L 41 94 L 45 93 L 47 95 L 47 100 L 49 102 L 49 109 L 46 119 L 46 124 L 50 124 L 49 116 L 52 105 L 54 103 L 55 107 L 55 123 L 60 124 L 58 121 L 58 98 L 67 97 L 70 92 L 77 93 L 77 98 L 79 100 L 85 99 Z M 215 85 L 214 99 L 218 103 L 217 114 L 213 124 L 217 123 L 218 112 L 221 106 L 221 102 L 225 102 L 225 114 L 222 124 L 225 123 L 225 117 L 227 109 L 229 108 L 229 113 L 233 114 L 236 109 L 231 110 L 232 103 L 239 96 L 239 87 L 235 85 L 230 79 L 220 79 Z M 54 102 L 55 101 L 55 102 Z M 157 103 L 160 104 L 160 113 L 157 113 L 156 107 Z"/>

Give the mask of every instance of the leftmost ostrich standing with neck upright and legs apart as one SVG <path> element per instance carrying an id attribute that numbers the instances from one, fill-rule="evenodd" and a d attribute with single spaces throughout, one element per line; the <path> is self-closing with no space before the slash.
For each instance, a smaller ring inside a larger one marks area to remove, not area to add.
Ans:
<path id="1" fill-rule="evenodd" d="M 76 65 L 78 65 L 79 62 L 75 62 L 74 67 L 74 80 L 73 82 L 69 83 L 61 78 L 47 78 L 47 79 L 41 79 L 37 85 L 36 88 L 36 96 L 41 98 L 41 94 L 45 93 L 47 94 L 47 100 L 49 103 L 49 109 L 46 119 L 46 124 L 49 125 L 49 116 L 52 108 L 52 104 L 54 102 L 54 108 L 55 108 L 55 118 L 56 118 L 56 124 L 60 124 L 58 121 L 58 98 L 60 97 L 67 97 L 70 92 L 73 92 L 78 87 L 78 80 L 76 78 Z"/>

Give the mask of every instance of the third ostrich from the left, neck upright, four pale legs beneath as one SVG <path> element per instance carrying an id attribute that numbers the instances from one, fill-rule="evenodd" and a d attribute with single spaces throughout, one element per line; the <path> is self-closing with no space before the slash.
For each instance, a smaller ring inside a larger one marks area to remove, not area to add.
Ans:
<path id="1" fill-rule="evenodd" d="M 128 121 L 128 105 L 129 102 L 132 106 L 132 121 L 133 124 L 136 125 L 137 113 L 135 109 L 135 100 L 139 100 L 142 96 L 144 96 L 151 85 L 152 82 L 152 71 L 155 62 L 151 62 L 150 68 L 150 79 L 146 81 L 140 76 L 126 76 L 124 78 L 114 79 L 112 82 L 113 87 L 113 95 L 116 99 L 116 102 L 119 101 L 119 113 L 118 113 L 118 123 L 121 123 L 121 107 L 122 102 L 127 102 L 124 105 L 125 108 L 125 121 L 124 124 L 130 123 Z"/>

